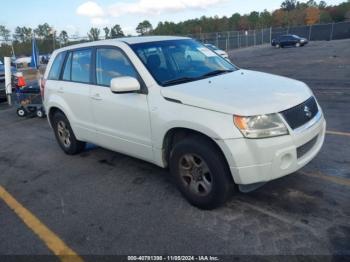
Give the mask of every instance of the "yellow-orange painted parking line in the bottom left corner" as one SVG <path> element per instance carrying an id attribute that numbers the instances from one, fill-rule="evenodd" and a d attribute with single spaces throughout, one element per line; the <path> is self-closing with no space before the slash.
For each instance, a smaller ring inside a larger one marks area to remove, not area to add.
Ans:
<path id="1" fill-rule="evenodd" d="M 84 261 L 69 248 L 54 232 L 45 226 L 35 215 L 22 206 L 0 185 L 0 198 L 27 225 L 62 262 Z"/>

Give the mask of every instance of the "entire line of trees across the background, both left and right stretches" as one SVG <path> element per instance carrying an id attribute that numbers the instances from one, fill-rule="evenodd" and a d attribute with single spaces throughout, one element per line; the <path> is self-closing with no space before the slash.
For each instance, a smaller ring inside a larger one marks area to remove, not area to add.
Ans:
<path id="1" fill-rule="evenodd" d="M 299 25 L 313 25 L 317 23 L 332 23 L 350 21 L 350 0 L 338 5 L 327 5 L 325 1 L 317 2 L 308 0 L 285 0 L 279 9 L 269 12 L 252 11 L 241 15 L 234 13 L 230 17 L 206 17 L 189 19 L 183 22 L 159 22 L 153 28 L 152 24 L 145 20 L 135 28 L 139 35 L 189 35 L 223 31 L 252 30 L 266 27 L 288 27 Z M 57 32 L 48 23 L 38 25 L 37 28 L 17 26 L 14 32 L 0 25 L 0 57 L 12 55 L 12 46 L 17 55 L 30 55 L 31 39 L 35 36 L 41 53 L 50 53 L 57 47 L 66 46 L 84 41 L 99 39 L 111 39 L 125 36 L 120 25 L 93 27 L 85 38 L 69 36 L 67 31 Z M 12 40 L 12 46 L 8 41 Z"/>

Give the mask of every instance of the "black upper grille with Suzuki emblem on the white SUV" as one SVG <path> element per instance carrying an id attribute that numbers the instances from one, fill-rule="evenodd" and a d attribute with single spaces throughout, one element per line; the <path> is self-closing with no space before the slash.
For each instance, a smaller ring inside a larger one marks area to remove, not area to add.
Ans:
<path id="1" fill-rule="evenodd" d="M 288 125 L 296 129 L 309 122 L 318 113 L 318 106 L 315 98 L 312 96 L 305 102 L 280 112 Z"/>

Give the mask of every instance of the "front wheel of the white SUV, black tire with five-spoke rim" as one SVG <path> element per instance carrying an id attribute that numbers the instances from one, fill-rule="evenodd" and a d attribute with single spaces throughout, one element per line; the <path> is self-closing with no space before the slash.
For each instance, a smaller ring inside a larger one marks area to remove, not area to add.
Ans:
<path id="1" fill-rule="evenodd" d="M 170 153 L 169 166 L 179 191 L 200 209 L 219 207 L 232 194 L 227 163 L 207 139 L 189 137 L 178 142 Z"/>

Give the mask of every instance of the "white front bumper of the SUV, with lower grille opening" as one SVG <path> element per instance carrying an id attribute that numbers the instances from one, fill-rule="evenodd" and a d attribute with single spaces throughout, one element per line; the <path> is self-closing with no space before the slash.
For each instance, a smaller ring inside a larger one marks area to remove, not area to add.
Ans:
<path id="1" fill-rule="evenodd" d="M 321 111 L 319 114 L 305 126 L 290 130 L 289 135 L 218 141 L 235 183 L 267 182 L 291 174 L 309 163 L 324 142 L 326 121 Z M 297 153 L 300 149 L 303 149 L 302 155 Z"/>

